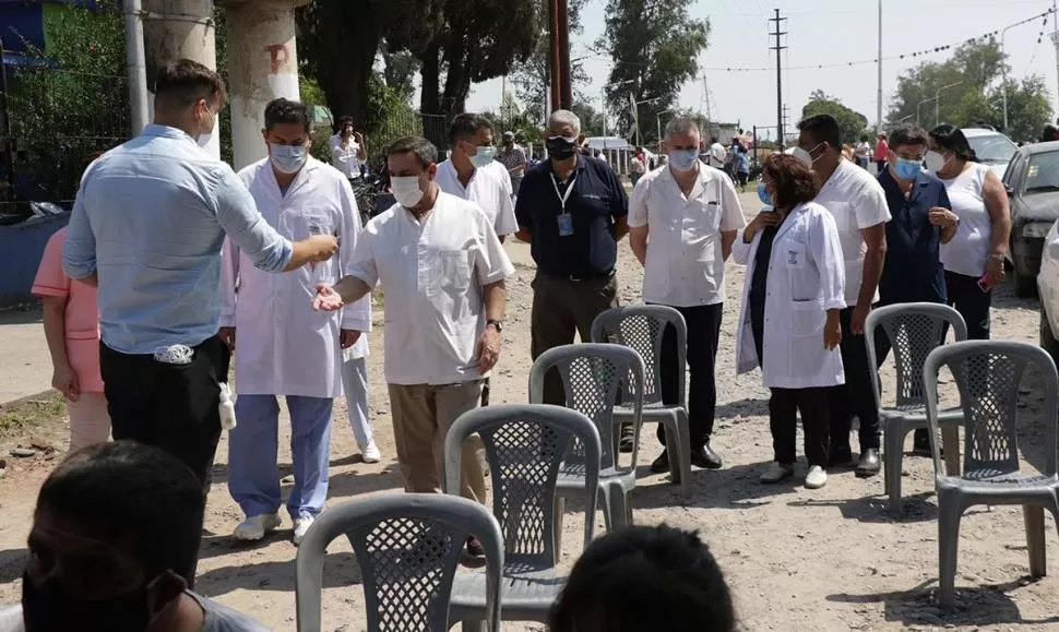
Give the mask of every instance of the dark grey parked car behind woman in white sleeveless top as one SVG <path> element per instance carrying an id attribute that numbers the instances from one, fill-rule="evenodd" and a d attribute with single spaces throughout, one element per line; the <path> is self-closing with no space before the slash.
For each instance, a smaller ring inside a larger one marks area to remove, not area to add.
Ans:
<path id="1" fill-rule="evenodd" d="M 1059 219 L 1059 141 L 1024 145 L 1015 151 L 1003 176 L 1011 200 L 1011 260 L 1015 296 L 1037 289 L 1045 237 Z"/>

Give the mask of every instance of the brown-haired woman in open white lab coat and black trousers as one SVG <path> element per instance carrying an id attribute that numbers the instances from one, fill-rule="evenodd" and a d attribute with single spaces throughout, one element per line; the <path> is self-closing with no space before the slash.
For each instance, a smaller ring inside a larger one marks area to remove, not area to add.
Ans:
<path id="1" fill-rule="evenodd" d="M 829 395 L 845 382 L 838 311 L 846 307 L 842 246 L 834 218 L 812 202 L 819 190 L 798 158 L 773 154 L 758 195 L 762 211 L 736 238 L 731 255 L 746 265 L 737 336 L 737 372 L 761 367 L 772 391 L 769 420 L 774 462 L 762 482 L 794 475 L 797 413 L 805 430 L 806 487 L 828 482 Z"/>

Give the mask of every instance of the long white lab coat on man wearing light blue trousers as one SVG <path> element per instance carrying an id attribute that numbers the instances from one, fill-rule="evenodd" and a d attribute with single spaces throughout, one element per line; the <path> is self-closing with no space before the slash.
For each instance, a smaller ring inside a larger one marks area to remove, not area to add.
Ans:
<path id="1" fill-rule="evenodd" d="M 230 241 L 225 245 L 221 324 L 236 327 L 236 392 L 337 397 L 343 360 L 340 329 L 364 332 L 346 354 L 367 355 L 371 297 L 334 313 L 313 311 L 312 298 L 318 283 L 335 283 L 350 267 L 361 228 L 353 189 L 337 169 L 312 157 L 285 195 L 269 158 L 242 169 L 239 177 L 261 215 L 281 235 L 291 241 L 313 234 L 337 235 L 340 246 L 326 262 L 269 274 L 255 269 Z"/>

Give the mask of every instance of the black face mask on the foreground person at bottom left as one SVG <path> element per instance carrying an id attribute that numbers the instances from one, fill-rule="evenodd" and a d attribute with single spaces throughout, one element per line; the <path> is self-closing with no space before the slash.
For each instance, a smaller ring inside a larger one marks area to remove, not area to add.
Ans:
<path id="1" fill-rule="evenodd" d="M 26 573 L 22 575 L 22 617 L 26 632 L 144 632 L 151 623 L 145 586 L 109 599 L 86 601 L 72 596 L 57 579 L 34 584 Z"/>

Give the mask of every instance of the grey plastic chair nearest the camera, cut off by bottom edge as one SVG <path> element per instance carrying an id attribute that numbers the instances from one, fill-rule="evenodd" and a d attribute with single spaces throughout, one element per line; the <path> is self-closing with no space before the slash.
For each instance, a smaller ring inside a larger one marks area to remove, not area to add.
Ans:
<path id="1" fill-rule="evenodd" d="M 480 504 L 453 496 L 396 493 L 325 510 L 298 547 L 299 632 L 319 632 L 328 545 L 345 535 L 364 576 L 370 632 L 443 632 L 453 575 L 468 536 L 486 550 L 488 630 L 500 630 L 500 525 Z"/>

